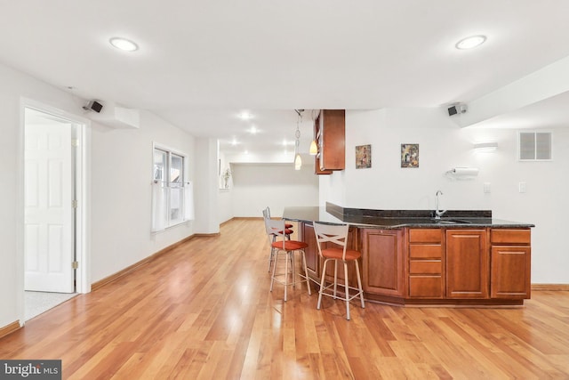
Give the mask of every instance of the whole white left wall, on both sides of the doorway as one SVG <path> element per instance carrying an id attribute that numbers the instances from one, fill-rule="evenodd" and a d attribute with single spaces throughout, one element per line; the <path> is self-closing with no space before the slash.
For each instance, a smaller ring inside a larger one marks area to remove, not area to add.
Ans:
<path id="1" fill-rule="evenodd" d="M 20 98 L 84 117 L 83 101 L 42 81 L 0 65 L 0 327 L 23 316 L 23 133 Z M 87 165 L 92 170 L 92 281 L 103 279 L 193 233 L 192 223 L 150 234 L 152 141 L 188 154 L 195 174 L 194 138 L 152 114 L 140 130 L 114 130 L 92 123 Z M 213 164 L 212 164 L 213 165 Z M 195 181 L 200 182 L 200 181 Z M 196 199 L 196 203 L 199 199 Z"/>

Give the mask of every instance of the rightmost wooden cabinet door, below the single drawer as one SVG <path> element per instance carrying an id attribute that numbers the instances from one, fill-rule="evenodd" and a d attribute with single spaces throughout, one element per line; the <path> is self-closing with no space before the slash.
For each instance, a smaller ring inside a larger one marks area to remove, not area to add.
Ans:
<path id="1" fill-rule="evenodd" d="M 530 298 L 531 248 L 493 246 L 490 296 L 492 298 Z"/>

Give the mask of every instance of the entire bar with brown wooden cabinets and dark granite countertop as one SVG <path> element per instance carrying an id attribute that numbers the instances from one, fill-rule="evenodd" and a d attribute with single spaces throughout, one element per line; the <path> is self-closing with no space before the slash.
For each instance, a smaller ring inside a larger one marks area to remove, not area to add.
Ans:
<path id="1" fill-rule="evenodd" d="M 398 305 L 519 306 L 531 296 L 532 223 L 493 218 L 489 210 L 373 210 L 291 206 L 309 277 L 322 275 L 313 223 L 349 224 L 349 249 L 362 253 L 368 301 Z M 354 271 L 350 271 L 354 272 Z M 333 272 L 325 273 L 327 280 Z M 355 279 L 349 278 L 350 284 Z"/>

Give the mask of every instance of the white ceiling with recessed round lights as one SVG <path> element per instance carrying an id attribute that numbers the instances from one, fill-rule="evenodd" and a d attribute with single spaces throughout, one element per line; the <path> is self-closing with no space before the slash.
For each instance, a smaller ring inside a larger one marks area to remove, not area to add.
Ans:
<path id="1" fill-rule="evenodd" d="M 267 149 L 293 140 L 293 109 L 438 107 L 491 93 L 569 56 L 568 15 L 566 0 L 0 0 L 0 62 L 227 148 L 235 138 L 240 150 L 260 149 L 252 139 Z M 454 48 L 476 34 L 486 43 Z M 140 50 L 118 52 L 112 36 Z M 255 118 L 236 117 L 244 109 Z"/>

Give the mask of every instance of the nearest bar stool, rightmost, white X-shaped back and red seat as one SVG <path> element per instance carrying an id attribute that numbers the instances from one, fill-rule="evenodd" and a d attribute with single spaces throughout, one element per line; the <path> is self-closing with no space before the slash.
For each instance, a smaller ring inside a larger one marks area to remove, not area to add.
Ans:
<path id="1" fill-rule="evenodd" d="M 320 310 L 322 304 L 322 295 L 328 295 L 334 299 L 339 298 L 346 302 L 346 319 L 349 319 L 349 302 L 358 295 L 362 303 L 362 309 L 365 308 L 364 290 L 362 289 L 362 279 L 359 274 L 359 265 L 357 260 L 362 256 L 359 251 L 347 249 L 348 247 L 348 224 L 323 224 L 314 222 L 314 233 L 317 237 L 318 254 L 324 259 L 322 268 L 322 279 L 320 280 L 320 291 L 318 292 L 317 309 Z M 326 243 L 326 244 L 325 244 Z M 333 283 L 325 287 L 326 265 L 328 262 L 334 262 L 334 280 Z M 336 294 L 338 287 L 338 262 L 344 264 L 344 284 L 346 289 L 344 297 Z M 350 287 L 348 283 L 348 262 L 356 264 L 357 287 Z M 333 287 L 333 292 L 326 292 Z M 349 289 L 357 290 L 355 295 L 349 295 Z"/>

